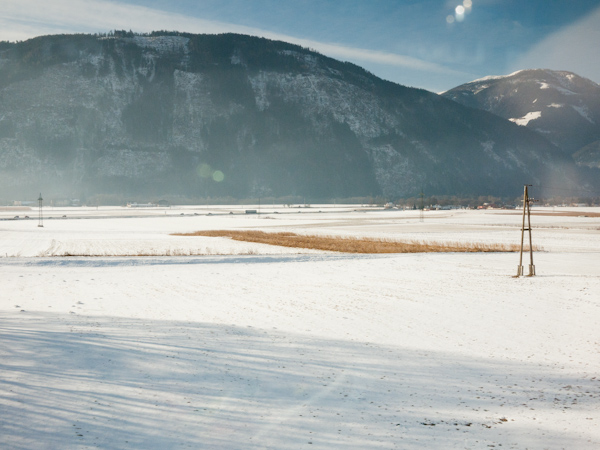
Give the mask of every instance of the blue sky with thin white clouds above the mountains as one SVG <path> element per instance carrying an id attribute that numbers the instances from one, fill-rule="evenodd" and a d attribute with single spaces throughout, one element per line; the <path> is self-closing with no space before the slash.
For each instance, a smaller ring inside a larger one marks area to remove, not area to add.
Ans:
<path id="1" fill-rule="evenodd" d="M 0 0 L 0 40 L 121 29 L 285 40 L 434 92 L 528 68 L 600 83 L 600 0 Z"/>

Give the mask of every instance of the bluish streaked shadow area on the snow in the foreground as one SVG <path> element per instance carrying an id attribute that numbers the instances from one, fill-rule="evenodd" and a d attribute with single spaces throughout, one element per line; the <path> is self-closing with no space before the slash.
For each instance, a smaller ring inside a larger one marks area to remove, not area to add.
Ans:
<path id="1" fill-rule="evenodd" d="M 595 445 L 576 422 L 596 420 L 598 381 L 521 362 L 193 321 L 2 324 L 0 420 L 24 447 L 522 448 L 531 430 L 529 448 Z"/>

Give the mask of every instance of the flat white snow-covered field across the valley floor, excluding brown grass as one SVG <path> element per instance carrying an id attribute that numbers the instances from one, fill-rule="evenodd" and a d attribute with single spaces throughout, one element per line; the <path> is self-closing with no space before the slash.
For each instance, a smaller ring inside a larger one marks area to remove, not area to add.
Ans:
<path id="1" fill-rule="evenodd" d="M 600 448 L 598 209 L 532 217 L 532 278 L 170 235 L 520 242 L 519 211 L 243 210 L 0 209 L 0 448 Z"/>

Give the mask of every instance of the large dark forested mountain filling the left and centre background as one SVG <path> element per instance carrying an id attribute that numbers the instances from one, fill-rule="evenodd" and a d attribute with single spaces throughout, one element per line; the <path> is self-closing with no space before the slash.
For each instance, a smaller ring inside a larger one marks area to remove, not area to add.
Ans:
<path id="1" fill-rule="evenodd" d="M 528 127 L 285 42 L 0 43 L 0 198 L 519 195 L 576 178 Z"/>

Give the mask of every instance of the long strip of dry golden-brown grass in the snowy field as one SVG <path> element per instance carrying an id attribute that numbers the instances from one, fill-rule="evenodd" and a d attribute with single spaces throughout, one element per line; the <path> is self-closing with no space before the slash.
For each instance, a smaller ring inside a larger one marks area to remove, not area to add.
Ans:
<path id="1" fill-rule="evenodd" d="M 460 242 L 400 242 L 390 239 L 373 239 L 343 236 L 301 235 L 289 232 L 266 233 L 246 230 L 210 230 L 194 233 L 176 233 L 175 236 L 228 237 L 236 241 L 306 248 L 344 253 L 440 253 L 440 252 L 516 252 L 516 244 L 482 244 Z"/>

